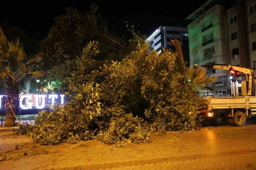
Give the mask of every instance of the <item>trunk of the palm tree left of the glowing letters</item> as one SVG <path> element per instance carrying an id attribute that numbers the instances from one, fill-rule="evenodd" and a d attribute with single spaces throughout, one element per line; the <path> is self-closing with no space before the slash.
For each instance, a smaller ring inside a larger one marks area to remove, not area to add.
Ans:
<path id="1" fill-rule="evenodd" d="M 16 104 L 19 98 L 19 85 L 8 86 L 6 89 L 5 108 L 6 108 L 6 120 L 4 127 L 13 127 L 15 123 Z M 14 114 L 13 114 L 14 113 Z"/>

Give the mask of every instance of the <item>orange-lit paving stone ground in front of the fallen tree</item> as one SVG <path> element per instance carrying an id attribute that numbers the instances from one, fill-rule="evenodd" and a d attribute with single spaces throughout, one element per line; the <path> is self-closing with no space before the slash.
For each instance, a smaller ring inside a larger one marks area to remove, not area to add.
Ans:
<path id="1" fill-rule="evenodd" d="M 255 132 L 256 124 L 218 126 L 204 127 L 202 131 L 168 132 L 163 137 L 155 133 L 151 135 L 151 143 L 129 144 L 124 148 L 110 147 L 96 140 L 86 142 L 86 147 L 69 144 L 38 146 L 45 147 L 50 153 L 3 161 L 0 169 L 255 170 Z"/>

